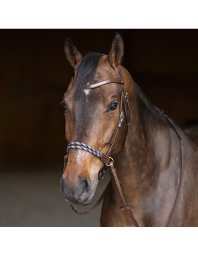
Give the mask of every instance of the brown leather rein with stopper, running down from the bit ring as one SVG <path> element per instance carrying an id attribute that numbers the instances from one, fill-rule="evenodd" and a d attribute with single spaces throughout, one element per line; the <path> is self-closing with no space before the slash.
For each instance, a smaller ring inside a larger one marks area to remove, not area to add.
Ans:
<path id="1" fill-rule="evenodd" d="M 124 203 L 124 210 L 127 211 L 131 221 L 134 223 L 135 227 L 138 227 L 138 224 L 136 222 L 136 220 L 134 219 L 134 216 L 133 214 L 131 213 L 130 209 L 131 208 L 134 208 L 134 206 L 128 206 L 127 202 L 126 202 L 126 199 L 124 197 L 124 194 L 123 194 L 123 191 L 122 191 L 122 188 L 121 188 L 121 185 L 120 185 L 120 181 L 118 180 L 118 177 L 117 177 L 117 174 L 116 174 L 116 170 L 114 168 L 114 165 L 113 165 L 113 162 L 110 162 L 110 167 L 111 167 L 111 171 L 113 173 L 113 176 L 114 176 L 114 179 L 115 179 L 115 183 L 117 185 L 117 188 L 118 188 L 118 191 L 120 193 L 120 196 L 121 196 L 121 199 Z M 120 210 L 123 210 L 123 207 L 120 208 Z"/>

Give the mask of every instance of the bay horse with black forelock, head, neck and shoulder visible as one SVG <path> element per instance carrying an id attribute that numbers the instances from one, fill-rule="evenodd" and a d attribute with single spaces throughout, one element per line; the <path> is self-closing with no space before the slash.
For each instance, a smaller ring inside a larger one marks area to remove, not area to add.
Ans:
<path id="1" fill-rule="evenodd" d="M 106 155 L 116 137 L 111 158 L 126 201 L 135 206 L 131 210 L 135 220 L 139 226 L 166 226 L 181 181 L 179 136 L 184 152 L 183 179 L 170 226 L 198 226 L 198 148 L 172 120 L 175 131 L 121 66 L 124 56 L 121 35 L 115 33 L 108 56 L 89 53 L 83 57 L 71 39 L 65 41 L 64 51 L 75 73 L 62 101 L 67 116 L 67 141 L 89 145 L 95 153 Z M 124 84 L 111 82 L 87 88 L 104 80 L 119 81 L 121 73 Z M 122 86 L 127 92 L 130 126 L 127 126 L 127 107 L 121 106 Z M 123 124 L 116 135 L 117 123 L 121 120 L 120 109 Z M 70 204 L 86 206 L 93 202 L 104 162 L 88 150 L 71 147 L 68 152 L 67 166 L 60 181 L 61 193 Z M 122 205 L 111 173 L 110 186 L 102 204 L 101 226 L 134 226 L 127 211 L 119 210 Z"/>

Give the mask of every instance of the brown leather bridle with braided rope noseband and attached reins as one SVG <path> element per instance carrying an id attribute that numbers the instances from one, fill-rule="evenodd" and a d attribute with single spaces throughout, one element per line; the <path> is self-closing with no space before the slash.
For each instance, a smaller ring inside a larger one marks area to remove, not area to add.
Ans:
<path id="1" fill-rule="evenodd" d="M 113 159 L 110 157 L 110 153 L 112 151 L 112 148 L 113 148 L 113 145 L 115 143 L 115 140 L 116 140 L 116 137 L 117 137 L 117 134 L 118 134 L 118 131 L 121 129 L 121 125 L 123 123 L 123 120 L 124 120 L 124 111 L 122 111 L 122 99 L 124 99 L 125 101 L 125 106 L 126 106 L 126 124 L 127 124 L 127 134 L 128 134 L 128 127 L 130 125 L 130 108 L 129 108 L 129 104 L 128 104 L 128 98 L 127 98 L 127 93 L 125 93 L 124 91 L 124 80 L 122 78 L 122 72 L 119 69 L 119 74 L 120 74 L 120 78 L 119 79 L 116 79 L 116 78 L 113 78 L 113 79 L 108 79 L 108 80 L 104 80 L 104 81 L 101 81 L 101 82 L 98 82 L 98 83 L 95 83 L 95 84 L 90 84 L 90 85 L 86 85 L 85 86 L 85 89 L 93 89 L 93 88 L 97 88 L 99 86 L 102 86 L 104 84 L 109 84 L 109 83 L 118 83 L 118 84 L 121 84 L 122 86 L 122 93 L 121 93 L 121 104 L 120 104 L 120 118 L 119 118 L 119 121 L 118 121 L 118 124 L 117 124 L 117 130 L 116 130 L 116 133 L 115 133 L 115 136 L 114 136 L 114 139 L 113 139 L 113 142 L 107 152 L 107 154 L 105 155 L 104 153 L 101 153 L 99 152 L 98 150 L 88 146 L 87 144 L 84 144 L 84 143 L 80 143 L 80 142 L 71 142 L 71 143 L 68 143 L 68 147 L 67 147 L 67 155 L 64 157 L 64 168 L 63 168 L 63 173 L 66 169 L 66 166 L 67 166 L 67 162 L 68 162 L 68 156 L 69 156 L 69 150 L 72 148 L 72 149 L 82 149 L 82 150 L 85 150 L 89 153 L 93 153 L 95 156 L 99 157 L 100 160 L 104 163 L 103 165 L 103 168 L 99 171 L 99 174 L 98 174 L 98 179 L 100 180 L 101 178 L 104 177 L 104 174 L 105 172 L 107 172 L 107 170 L 109 169 L 109 167 L 111 168 L 111 172 L 113 173 L 113 176 L 114 176 L 114 179 L 115 179 L 115 183 L 117 185 L 117 188 L 118 188 L 118 191 L 120 193 L 120 196 L 121 196 L 121 199 L 123 201 L 123 204 L 124 206 L 120 208 L 120 210 L 126 210 L 131 221 L 133 222 L 133 224 L 138 227 L 138 224 L 136 222 L 136 220 L 134 219 L 134 216 L 133 214 L 131 213 L 131 209 L 134 209 L 135 207 L 134 206 L 128 206 L 127 202 L 126 202 L 126 199 L 124 197 L 124 194 L 123 194 L 123 191 L 122 191 L 122 188 L 121 188 L 121 185 L 120 185 L 120 180 L 118 180 L 118 177 L 117 177 L 117 174 L 116 174 L 116 170 L 114 168 L 114 165 L 113 165 Z M 71 79 L 71 83 L 73 83 L 75 85 L 75 80 L 74 78 Z M 124 94 L 124 97 L 123 97 L 123 94 Z M 156 108 L 156 107 L 155 107 Z M 166 116 L 163 111 L 161 111 L 160 109 L 156 108 L 157 111 L 160 112 L 160 114 L 162 114 L 162 116 L 164 116 L 169 122 L 170 124 L 173 126 L 174 130 L 176 131 L 177 133 L 177 136 L 179 137 L 180 139 L 180 146 L 181 146 L 181 175 L 180 175 L 180 183 L 179 183 L 179 189 L 178 189 L 178 193 L 177 193 L 177 197 L 176 197 L 176 201 L 175 201 L 175 204 L 174 204 L 174 208 L 173 208 L 173 211 L 171 212 L 171 215 L 169 217 L 169 220 L 168 220 L 168 223 L 166 226 L 170 226 L 170 223 L 173 219 L 173 216 L 174 216 L 174 213 L 175 213 L 175 210 L 176 210 L 176 207 L 177 207 L 177 203 L 178 203 L 178 199 L 179 199 L 179 194 L 180 194 L 180 189 L 181 189 L 181 183 L 182 183 L 182 177 L 183 177 L 183 143 L 182 143 L 182 140 L 177 132 L 177 129 L 174 125 L 174 123 L 170 120 L 170 118 L 168 116 Z M 66 110 L 64 111 L 64 115 L 65 115 L 65 121 L 67 119 L 67 113 L 66 113 Z M 111 160 L 110 160 L 111 159 Z M 105 168 L 105 165 L 107 165 L 108 167 Z M 110 184 L 110 182 L 109 182 Z M 109 186 L 108 184 L 108 186 Z M 72 210 L 79 214 L 79 215 L 85 215 L 85 214 L 88 214 L 90 213 L 91 211 L 93 211 L 99 204 L 100 202 L 102 201 L 102 199 L 104 198 L 105 196 L 105 193 L 107 192 L 107 189 L 108 189 L 108 186 L 105 188 L 104 192 L 102 193 L 101 197 L 99 198 L 99 200 L 97 201 L 97 203 L 95 204 L 95 206 L 93 208 L 91 208 L 90 210 L 86 211 L 86 212 L 77 212 L 76 209 L 73 208 L 72 204 L 70 204 Z"/>

